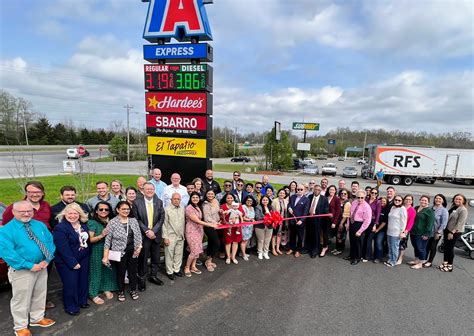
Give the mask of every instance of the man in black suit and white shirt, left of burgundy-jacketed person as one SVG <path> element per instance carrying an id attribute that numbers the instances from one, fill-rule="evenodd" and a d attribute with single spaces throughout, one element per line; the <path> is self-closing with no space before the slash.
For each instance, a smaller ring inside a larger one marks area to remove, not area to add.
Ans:
<path id="1" fill-rule="evenodd" d="M 309 215 L 322 215 L 329 213 L 329 203 L 326 196 L 321 194 L 321 186 L 315 185 L 313 194 L 309 195 Z M 305 247 L 311 258 L 320 255 L 320 227 L 323 221 L 327 221 L 327 217 L 309 217 L 306 220 L 306 240 Z M 322 255 L 320 255 L 322 257 Z"/>

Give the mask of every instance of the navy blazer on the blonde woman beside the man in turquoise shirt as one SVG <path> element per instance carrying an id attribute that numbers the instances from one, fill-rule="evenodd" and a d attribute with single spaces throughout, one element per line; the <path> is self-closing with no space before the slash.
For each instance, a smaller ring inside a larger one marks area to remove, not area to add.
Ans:
<path id="1" fill-rule="evenodd" d="M 86 224 L 81 223 L 81 229 L 89 234 Z M 54 261 L 57 264 L 65 264 L 69 269 L 73 269 L 90 255 L 90 238 L 87 239 L 87 248 L 81 248 L 79 235 L 66 219 L 54 227 L 53 239 L 56 245 Z"/>

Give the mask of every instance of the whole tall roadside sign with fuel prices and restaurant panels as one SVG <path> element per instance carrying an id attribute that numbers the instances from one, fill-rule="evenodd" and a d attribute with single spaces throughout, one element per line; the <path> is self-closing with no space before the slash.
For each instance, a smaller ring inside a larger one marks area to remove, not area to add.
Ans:
<path id="1" fill-rule="evenodd" d="M 143 38 L 149 168 L 183 183 L 212 167 L 212 41 L 209 0 L 149 2 Z M 170 43 L 171 39 L 178 43 Z"/>

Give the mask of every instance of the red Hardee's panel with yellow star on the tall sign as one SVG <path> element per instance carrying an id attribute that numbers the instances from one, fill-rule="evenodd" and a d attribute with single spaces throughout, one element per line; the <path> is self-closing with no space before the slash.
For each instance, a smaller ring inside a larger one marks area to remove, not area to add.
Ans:
<path id="1" fill-rule="evenodd" d="M 212 96 L 206 92 L 146 92 L 147 112 L 211 113 Z"/>

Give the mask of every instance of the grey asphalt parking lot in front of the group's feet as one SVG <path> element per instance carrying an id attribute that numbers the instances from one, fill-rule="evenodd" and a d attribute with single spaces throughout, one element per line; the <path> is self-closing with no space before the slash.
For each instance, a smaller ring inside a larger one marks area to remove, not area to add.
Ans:
<path id="1" fill-rule="evenodd" d="M 408 252 L 411 255 L 411 247 Z M 440 254 L 436 263 L 440 262 Z M 53 273 L 48 311 L 57 324 L 39 335 L 401 335 L 472 334 L 473 261 L 456 250 L 455 271 L 351 266 L 307 255 L 218 261 L 215 272 L 150 284 L 138 301 L 107 301 L 79 316 L 61 308 Z M 202 267 L 201 267 L 202 268 Z M 10 334 L 8 288 L 0 292 L 0 330 Z"/>

